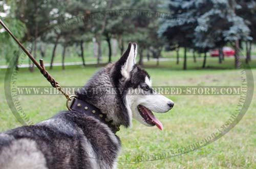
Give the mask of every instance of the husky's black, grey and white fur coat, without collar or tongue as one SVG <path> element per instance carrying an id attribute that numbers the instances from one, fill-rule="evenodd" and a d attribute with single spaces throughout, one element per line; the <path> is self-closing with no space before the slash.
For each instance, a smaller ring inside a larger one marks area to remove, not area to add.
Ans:
<path id="1" fill-rule="evenodd" d="M 136 55 L 136 43 L 129 43 L 117 62 L 99 70 L 76 94 L 116 125 L 131 127 L 135 118 L 154 126 L 138 106 L 164 113 L 174 103 L 152 89 L 150 76 L 135 64 Z M 101 89 L 100 93 L 95 88 Z M 107 88 L 114 89 L 114 94 Z M 137 94 L 130 94 L 133 92 Z M 61 111 L 36 125 L 0 133 L 0 168 L 116 168 L 120 147 L 120 139 L 100 120 L 76 111 Z"/>

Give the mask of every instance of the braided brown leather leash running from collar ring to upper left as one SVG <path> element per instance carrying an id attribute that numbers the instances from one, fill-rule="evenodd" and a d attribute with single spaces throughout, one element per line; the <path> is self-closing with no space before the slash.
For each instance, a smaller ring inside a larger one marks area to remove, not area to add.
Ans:
<path id="1" fill-rule="evenodd" d="M 28 55 L 28 57 L 32 60 L 32 62 L 36 65 L 36 67 L 40 70 L 41 74 L 51 83 L 52 87 L 57 88 L 62 94 L 66 96 L 68 100 L 70 100 L 70 96 L 63 91 L 61 86 L 55 79 L 48 73 L 45 69 L 44 60 L 40 59 L 40 64 L 35 60 L 35 58 L 29 53 L 29 51 L 18 41 L 18 39 L 12 34 L 12 32 L 7 28 L 5 23 L 0 19 L 1 25 L 4 29 L 11 35 L 11 37 L 18 43 L 18 45 L 22 48 L 22 50 Z"/>

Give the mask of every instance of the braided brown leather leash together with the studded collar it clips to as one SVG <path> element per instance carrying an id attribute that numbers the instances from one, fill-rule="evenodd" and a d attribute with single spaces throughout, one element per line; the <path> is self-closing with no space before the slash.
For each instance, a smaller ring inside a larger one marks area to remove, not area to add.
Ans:
<path id="1" fill-rule="evenodd" d="M 22 48 L 22 50 L 28 55 L 28 57 L 32 60 L 32 62 L 36 65 L 36 67 L 40 70 L 40 73 L 51 83 L 52 87 L 58 89 L 63 95 L 65 95 L 67 102 L 66 106 L 69 110 L 77 111 L 80 113 L 87 114 L 89 116 L 94 116 L 95 118 L 99 119 L 101 122 L 108 125 L 111 130 L 116 133 L 119 131 L 119 126 L 116 126 L 113 123 L 113 120 L 109 120 L 106 117 L 106 114 L 103 114 L 97 107 L 84 102 L 82 100 L 79 100 L 77 98 L 77 95 L 69 95 L 66 93 L 62 87 L 59 85 L 59 83 L 48 73 L 48 71 L 45 68 L 44 60 L 39 59 L 39 63 L 35 60 L 35 58 L 29 53 L 29 51 L 18 41 L 18 39 L 11 33 L 11 31 L 7 28 L 5 23 L 0 19 L 1 25 L 4 27 L 4 29 L 11 35 L 11 37 L 18 43 L 18 45 Z"/>

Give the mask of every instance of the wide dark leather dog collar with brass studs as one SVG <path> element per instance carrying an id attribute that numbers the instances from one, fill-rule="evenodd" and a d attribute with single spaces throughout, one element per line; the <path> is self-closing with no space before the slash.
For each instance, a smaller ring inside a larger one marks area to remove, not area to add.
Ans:
<path id="1" fill-rule="evenodd" d="M 99 119 L 102 123 L 105 123 L 108 125 L 111 130 L 116 134 L 120 129 L 120 125 L 117 126 L 113 123 L 113 120 L 109 120 L 106 117 L 106 114 L 103 114 L 100 109 L 95 107 L 94 105 L 84 102 L 80 99 L 73 98 L 72 101 L 69 103 L 69 109 L 73 111 L 78 111 L 80 113 L 84 113 L 89 116 L 93 116 L 97 119 Z"/>

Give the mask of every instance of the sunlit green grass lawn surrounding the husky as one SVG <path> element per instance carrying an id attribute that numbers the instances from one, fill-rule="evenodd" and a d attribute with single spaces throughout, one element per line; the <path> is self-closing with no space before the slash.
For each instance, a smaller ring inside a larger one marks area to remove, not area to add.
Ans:
<path id="1" fill-rule="evenodd" d="M 220 65 L 218 59 L 209 58 L 206 69 L 201 69 L 202 61 L 188 60 L 188 70 L 181 70 L 182 62 L 175 61 L 146 63 L 145 67 L 153 79 L 153 85 L 241 85 L 240 70 L 232 69 L 233 59 L 226 59 Z M 251 63 L 255 66 L 255 61 Z M 67 66 L 66 70 L 54 68 L 50 73 L 62 85 L 83 85 L 99 69 L 95 66 Z M 252 69 L 256 79 L 256 69 Z M 20 126 L 8 108 L 4 95 L 5 70 L 0 70 L 0 131 Z M 255 84 L 255 82 L 254 82 Z M 20 69 L 17 85 L 48 86 L 49 83 L 38 71 L 29 73 Z M 208 146 L 164 160 L 147 162 L 118 162 L 118 168 L 256 168 L 255 102 L 256 92 L 249 110 L 229 133 Z M 122 141 L 120 160 L 137 155 L 152 155 L 195 143 L 221 127 L 236 110 L 239 96 L 228 95 L 168 95 L 175 102 L 173 110 L 166 114 L 156 114 L 164 125 L 160 131 L 133 120 L 131 129 L 117 133 Z M 34 122 L 50 118 L 60 110 L 66 110 L 65 98 L 59 96 L 19 96 L 20 104 Z M 31 109 L 31 105 L 34 107 Z"/>

